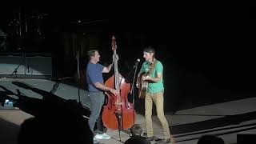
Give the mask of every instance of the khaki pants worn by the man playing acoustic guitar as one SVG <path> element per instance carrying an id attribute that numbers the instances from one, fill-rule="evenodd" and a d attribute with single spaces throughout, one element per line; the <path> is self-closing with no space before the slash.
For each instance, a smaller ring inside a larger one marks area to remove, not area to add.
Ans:
<path id="1" fill-rule="evenodd" d="M 153 132 L 153 126 L 152 126 L 152 105 L 153 102 L 156 106 L 157 114 L 158 114 L 158 119 L 162 124 L 162 130 L 164 134 L 164 138 L 170 138 L 170 130 L 169 130 L 169 125 L 166 120 L 166 116 L 164 114 L 163 110 L 163 93 L 146 93 L 145 97 L 145 118 L 146 118 L 146 131 L 147 131 L 147 137 L 152 137 L 154 136 Z"/>

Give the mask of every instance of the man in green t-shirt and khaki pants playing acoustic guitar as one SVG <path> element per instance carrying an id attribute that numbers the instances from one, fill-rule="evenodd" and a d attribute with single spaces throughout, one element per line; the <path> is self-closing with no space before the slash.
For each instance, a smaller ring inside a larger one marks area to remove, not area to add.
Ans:
<path id="1" fill-rule="evenodd" d="M 139 90 L 145 90 L 143 93 L 139 91 L 139 97 L 144 98 L 142 94 L 145 94 L 145 118 L 146 118 L 146 131 L 147 138 L 150 141 L 154 140 L 154 132 L 152 126 L 152 105 L 153 102 L 156 106 L 159 121 L 162 124 L 164 138 L 158 143 L 170 143 L 170 130 L 169 124 L 166 120 L 166 116 L 163 110 L 163 81 L 162 81 L 162 62 L 154 58 L 155 50 L 152 46 L 148 46 L 143 50 L 143 62 L 142 67 L 138 73 L 138 79 L 136 86 Z M 147 86 L 143 86 L 143 85 Z"/>

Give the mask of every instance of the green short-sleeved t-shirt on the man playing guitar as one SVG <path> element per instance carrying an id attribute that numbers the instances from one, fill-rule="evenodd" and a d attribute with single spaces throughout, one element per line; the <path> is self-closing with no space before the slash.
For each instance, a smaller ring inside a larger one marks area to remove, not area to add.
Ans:
<path id="1" fill-rule="evenodd" d="M 150 70 L 150 62 L 143 62 L 140 73 L 147 73 Z M 158 73 L 162 74 L 163 66 L 162 62 L 157 61 L 154 70 L 151 72 L 150 77 L 156 78 Z M 149 82 L 147 87 L 148 93 L 158 93 L 164 90 L 162 79 L 160 82 Z"/>

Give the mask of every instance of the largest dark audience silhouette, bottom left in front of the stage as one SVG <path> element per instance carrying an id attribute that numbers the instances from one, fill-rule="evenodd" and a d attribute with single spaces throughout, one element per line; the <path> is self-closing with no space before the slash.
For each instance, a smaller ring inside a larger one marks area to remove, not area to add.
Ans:
<path id="1" fill-rule="evenodd" d="M 86 118 L 76 110 L 68 105 L 48 106 L 22 123 L 18 144 L 93 143 L 93 137 Z"/>

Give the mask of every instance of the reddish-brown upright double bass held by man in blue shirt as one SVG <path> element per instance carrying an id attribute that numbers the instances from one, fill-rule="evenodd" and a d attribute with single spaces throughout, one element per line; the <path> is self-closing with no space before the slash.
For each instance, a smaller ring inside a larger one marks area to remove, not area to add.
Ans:
<path id="1" fill-rule="evenodd" d="M 118 73 L 117 44 L 114 36 L 111 47 L 114 51 L 114 75 L 105 82 L 105 85 L 119 90 L 120 93 L 114 95 L 110 91 L 106 92 L 108 100 L 102 112 L 102 122 L 110 130 L 127 130 L 134 125 L 136 112 L 134 104 L 128 101 L 130 83 L 127 83 L 125 78 Z"/>

